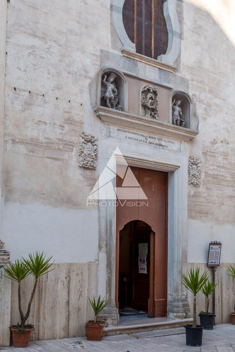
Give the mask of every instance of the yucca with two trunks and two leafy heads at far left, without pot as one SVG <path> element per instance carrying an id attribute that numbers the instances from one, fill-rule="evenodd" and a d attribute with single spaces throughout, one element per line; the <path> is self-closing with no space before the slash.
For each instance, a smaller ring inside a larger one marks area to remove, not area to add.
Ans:
<path id="1" fill-rule="evenodd" d="M 6 265 L 6 268 L 4 269 L 9 276 L 6 276 L 6 275 L 4 276 L 7 278 L 10 278 L 13 281 L 18 282 L 18 306 L 19 306 L 19 312 L 20 312 L 20 318 L 21 318 L 20 328 L 21 328 L 21 332 L 23 332 L 25 327 L 25 321 L 29 318 L 32 300 L 33 300 L 33 297 L 35 296 L 35 291 L 37 287 L 38 277 L 44 274 L 47 274 L 51 270 L 54 270 L 54 269 L 48 270 L 54 262 L 49 263 L 52 257 L 45 259 L 46 256 L 43 257 L 43 252 L 41 254 L 39 252 L 36 252 L 36 254 L 30 253 L 29 259 L 24 259 L 23 257 L 21 258 L 23 260 L 20 259 L 19 261 L 19 259 L 17 259 L 14 264 L 10 262 L 8 263 L 8 266 Z M 35 283 L 34 283 L 33 291 L 28 304 L 27 312 L 24 315 L 21 308 L 21 294 L 20 294 L 21 281 L 30 274 L 35 277 Z"/>

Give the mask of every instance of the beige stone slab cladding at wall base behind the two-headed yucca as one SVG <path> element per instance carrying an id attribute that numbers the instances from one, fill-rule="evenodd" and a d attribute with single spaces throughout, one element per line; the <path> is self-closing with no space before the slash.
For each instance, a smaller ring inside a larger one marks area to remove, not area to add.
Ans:
<path id="1" fill-rule="evenodd" d="M 31 334 L 31 340 L 84 336 L 86 322 L 93 319 L 88 297 L 97 296 L 97 264 L 61 263 L 53 266 L 54 270 L 38 280 L 31 313 L 27 319 L 27 322 L 35 324 L 35 334 Z M 27 311 L 33 285 L 32 275 L 21 283 L 24 313 Z M 20 322 L 18 283 L 12 281 L 11 324 L 17 321 Z"/>

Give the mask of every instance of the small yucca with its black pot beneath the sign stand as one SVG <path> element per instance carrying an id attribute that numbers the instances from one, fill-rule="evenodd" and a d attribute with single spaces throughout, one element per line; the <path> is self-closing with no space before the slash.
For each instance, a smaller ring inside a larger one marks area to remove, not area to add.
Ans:
<path id="1" fill-rule="evenodd" d="M 206 296 L 206 312 L 203 310 L 200 311 L 200 324 L 203 325 L 204 330 L 213 330 L 214 321 L 215 321 L 215 313 L 208 313 L 209 303 L 210 303 L 210 295 L 215 291 L 218 282 L 214 285 L 212 280 L 207 280 L 207 282 L 201 288 L 202 293 Z"/>

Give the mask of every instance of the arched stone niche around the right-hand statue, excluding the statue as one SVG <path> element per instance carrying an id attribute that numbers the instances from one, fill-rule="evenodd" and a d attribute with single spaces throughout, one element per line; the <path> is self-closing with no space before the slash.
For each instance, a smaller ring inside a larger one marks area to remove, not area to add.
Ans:
<path id="1" fill-rule="evenodd" d="M 173 102 L 177 102 L 177 100 L 180 100 L 180 107 L 183 116 L 185 117 L 185 125 L 183 126 L 184 128 L 188 128 L 189 130 L 192 130 L 192 117 L 193 117 L 193 104 L 192 104 L 192 99 L 191 97 L 185 93 L 185 92 L 173 92 L 169 96 L 169 123 L 172 124 L 172 104 Z M 182 127 L 182 123 L 180 123 L 180 126 Z"/>

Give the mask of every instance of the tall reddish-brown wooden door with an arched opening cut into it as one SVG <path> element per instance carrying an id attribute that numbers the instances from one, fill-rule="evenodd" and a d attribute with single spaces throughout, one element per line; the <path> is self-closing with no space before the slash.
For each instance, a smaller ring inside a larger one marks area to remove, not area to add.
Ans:
<path id="1" fill-rule="evenodd" d="M 168 174 L 136 167 L 130 167 L 130 169 L 148 199 L 144 201 L 143 199 L 135 199 L 132 202 L 134 205 L 131 206 L 129 201 L 124 203 L 122 200 L 123 205 L 116 208 L 116 305 L 118 307 L 119 231 L 128 222 L 141 220 L 148 224 L 151 229 L 148 236 L 146 235 L 146 243 L 149 243 L 149 258 L 147 260 L 147 263 L 149 263 L 149 277 L 137 272 L 137 252 L 140 243 L 138 241 L 143 241 L 143 237 L 138 237 L 137 231 L 136 240 L 133 242 L 133 261 L 135 262 L 132 264 L 134 270 L 132 283 L 133 308 L 137 309 L 137 306 L 140 307 L 142 304 L 142 310 L 148 311 L 149 317 L 163 317 L 167 314 Z M 124 179 L 117 176 L 117 187 L 122 187 Z"/>

